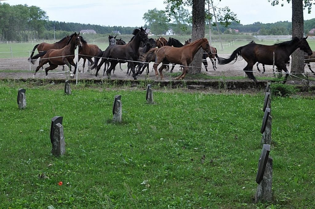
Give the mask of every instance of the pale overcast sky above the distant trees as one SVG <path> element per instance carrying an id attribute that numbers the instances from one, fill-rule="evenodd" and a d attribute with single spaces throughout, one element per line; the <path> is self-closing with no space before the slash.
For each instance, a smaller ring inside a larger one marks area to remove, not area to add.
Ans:
<path id="1" fill-rule="evenodd" d="M 145 21 L 143 14 L 149 9 L 164 10 L 164 0 L 7 0 L 1 3 L 10 5 L 27 4 L 37 6 L 46 11 L 49 20 L 77 22 L 105 26 L 142 26 Z M 237 14 L 241 24 L 254 22 L 274 23 L 277 21 L 291 21 L 291 3 L 286 0 L 281 5 L 271 6 L 268 0 L 214 0 L 218 7 L 228 6 Z M 304 11 L 304 20 L 315 17 L 315 5 L 312 13 Z"/>

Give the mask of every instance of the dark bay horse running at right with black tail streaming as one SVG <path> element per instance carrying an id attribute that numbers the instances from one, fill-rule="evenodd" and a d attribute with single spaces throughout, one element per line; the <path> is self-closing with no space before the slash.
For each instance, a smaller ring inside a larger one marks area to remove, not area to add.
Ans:
<path id="1" fill-rule="evenodd" d="M 285 63 L 288 61 L 290 54 L 292 54 L 297 48 L 300 48 L 308 55 L 312 55 L 312 50 L 308 45 L 306 38 L 293 37 L 290 41 L 276 43 L 274 45 L 262 45 L 257 43 L 249 43 L 234 50 L 231 56 L 227 59 L 218 58 L 220 65 L 225 65 L 233 60 L 236 62 L 239 56 L 243 57 L 247 62 L 246 67 L 243 69 L 247 76 L 253 81 L 257 81 L 253 74 L 253 65 L 259 62 L 264 65 L 273 64 L 273 52 L 275 53 L 275 65 L 280 71 L 286 72 L 284 82 L 287 81 L 289 76 L 288 69 Z"/>

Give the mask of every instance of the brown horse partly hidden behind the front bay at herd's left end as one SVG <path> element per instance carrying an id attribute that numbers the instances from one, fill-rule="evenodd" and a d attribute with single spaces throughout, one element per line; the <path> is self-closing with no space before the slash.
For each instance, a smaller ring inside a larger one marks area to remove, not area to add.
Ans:
<path id="1" fill-rule="evenodd" d="M 70 36 L 66 35 L 66 37 L 62 38 L 60 41 L 58 42 L 54 42 L 54 43 L 46 43 L 46 42 L 42 42 L 39 44 L 36 44 L 33 48 L 33 51 L 31 53 L 31 56 L 27 59 L 27 60 L 31 60 L 31 63 L 34 65 L 36 59 L 34 59 L 33 54 L 35 52 L 35 49 L 37 48 L 38 53 L 43 52 L 43 51 L 48 51 L 49 49 L 61 49 L 63 47 L 66 46 L 67 42 L 69 41 Z M 43 67 L 42 67 L 43 69 Z M 62 70 L 65 70 L 65 66 L 62 66 Z"/>

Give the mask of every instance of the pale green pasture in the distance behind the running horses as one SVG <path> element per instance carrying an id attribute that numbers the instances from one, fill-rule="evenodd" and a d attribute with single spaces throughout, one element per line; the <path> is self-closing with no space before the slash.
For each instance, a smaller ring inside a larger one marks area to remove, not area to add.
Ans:
<path id="1" fill-rule="evenodd" d="M 185 36 L 186 38 L 186 36 Z M 184 40 L 186 39 L 181 39 L 178 37 L 178 39 L 182 42 L 185 43 Z M 127 41 L 127 40 L 125 40 Z M 279 42 L 283 42 L 285 40 L 280 40 Z M 315 50 L 315 39 L 307 39 L 310 47 L 312 50 Z M 222 49 L 220 47 L 220 42 L 219 41 L 213 41 L 212 46 L 215 46 L 218 50 L 219 54 L 231 54 L 236 48 L 240 46 L 244 46 L 248 44 L 250 40 L 248 41 L 223 41 L 223 47 Z M 273 40 L 255 40 L 256 43 L 259 44 L 265 44 L 265 45 L 273 45 L 276 42 Z M 29 42 L 29 43 L 9 43 L 9 44 L 0 44 L 0 56 L 1 58 L 11 58 L 11 56 L 14 57 L 29 57 L 30 56 L 30 51 L 33 50 L 34 46 L 38 44 L 39 42 Z M 91 42 L 92 44 L 96 44 L 99 46 L 102 50 L 105 50 L 108 47 L 108 42 L 102 42 L 102 43 L 97 43 L 97 42 Z M 229 45 L 230 43 L 230 45 Z M 11 54 L 12 50 L 12 54 Z M 35 52 L 37 54 L 37 51 Z"/>

